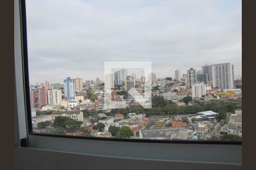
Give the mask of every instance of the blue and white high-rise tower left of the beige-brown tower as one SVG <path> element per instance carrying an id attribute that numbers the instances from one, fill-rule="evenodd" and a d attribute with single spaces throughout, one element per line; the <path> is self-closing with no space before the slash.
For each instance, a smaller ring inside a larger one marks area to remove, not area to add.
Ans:
<path id="1" fill-rule="evenodd" d="M 70 77 L 64 79 L 64 98 L 66 100 L 76 98 L 75 82 L 76 79 L 71 79 Z"/>

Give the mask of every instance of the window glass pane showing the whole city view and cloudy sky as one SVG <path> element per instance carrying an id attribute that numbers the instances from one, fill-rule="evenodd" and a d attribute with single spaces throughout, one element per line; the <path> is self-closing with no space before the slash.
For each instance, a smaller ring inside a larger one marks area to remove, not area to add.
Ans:
<path id="1" fill-rule="evenodd" d="M 241 141 L 241 1 L 27 0 L 26 15 L 32 131 Z"/>

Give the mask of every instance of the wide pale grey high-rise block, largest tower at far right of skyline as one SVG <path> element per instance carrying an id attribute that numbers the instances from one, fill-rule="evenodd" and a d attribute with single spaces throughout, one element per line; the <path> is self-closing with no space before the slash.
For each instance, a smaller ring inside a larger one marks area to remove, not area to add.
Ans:
<path id="1" fill-rule="evenodd" d="M 230 63 L 212 65 L 213 87 L 221 89 L 234 88 L 234 66 Z"/>

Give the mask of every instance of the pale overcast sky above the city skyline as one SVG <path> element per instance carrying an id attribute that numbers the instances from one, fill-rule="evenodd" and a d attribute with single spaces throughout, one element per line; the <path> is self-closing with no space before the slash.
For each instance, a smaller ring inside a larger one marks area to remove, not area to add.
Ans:
<path id="1" fill-rule="evenodd" d="M 26 2 L 30 83 L 102 80 L 105 61 L 151 61 L 158 78 L 230 62 L 242 75 L 241 0 Z"/>

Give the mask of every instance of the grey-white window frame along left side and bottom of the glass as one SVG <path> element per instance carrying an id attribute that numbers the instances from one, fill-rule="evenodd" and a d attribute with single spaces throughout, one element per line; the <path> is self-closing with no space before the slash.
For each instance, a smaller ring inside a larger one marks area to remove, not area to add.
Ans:
<path id="1" fill-rule="evenodd" d="M 242 145 L 159 143 L 156 141 L 124 142 L 28 134 L 23 79 L 24 65 L 22 59 L 24 48 L 22 44 L 22 26 L 20 23 L 21 1 L 23 0 L 15 0 L 15 147 L 22 147 L 20 140 L 25 138 L 28 143 L 27 147 L 35 149 L 69 152 L 73 154 L 114 156 L 117 158 L 241 167 Z"/>

